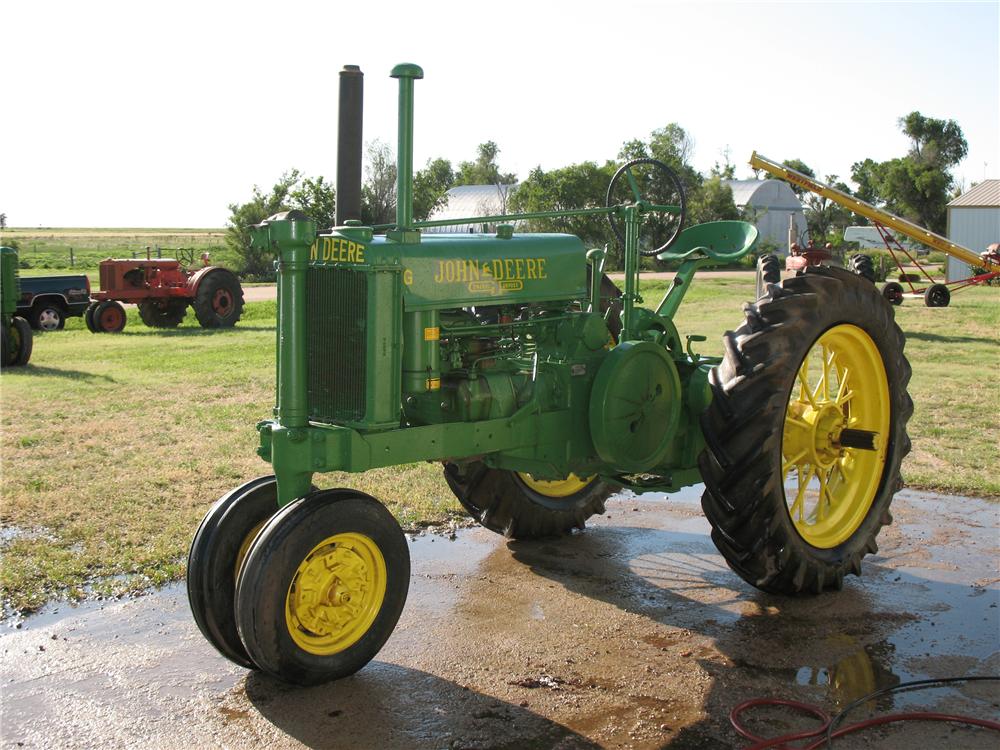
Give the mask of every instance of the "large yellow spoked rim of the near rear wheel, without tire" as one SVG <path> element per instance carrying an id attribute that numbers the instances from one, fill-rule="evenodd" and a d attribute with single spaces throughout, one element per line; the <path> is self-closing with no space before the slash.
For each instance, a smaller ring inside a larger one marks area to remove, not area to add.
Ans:
<path id="1" fill-rule="evenodd" d="M 889 440 L 889 383 L 878 347 L 841 324 L 813 344 L 788 399 L 781 446 L 788 514 L 813 547 L 845 542 L 878 492 Z M 874 449 L 847 447 L 844 430 Z"/>

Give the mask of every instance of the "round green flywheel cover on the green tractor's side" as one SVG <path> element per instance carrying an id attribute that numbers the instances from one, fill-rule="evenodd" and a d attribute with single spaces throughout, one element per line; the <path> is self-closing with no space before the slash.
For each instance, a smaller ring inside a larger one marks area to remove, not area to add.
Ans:
<path id="1" fill-rule="evenodd" d="M 590 396 L 590 433 L 602 460 L 626 472 L 652 469 L 680 416 L 680 376 L 662 346 L 626 341 L 611 350 Z"/>

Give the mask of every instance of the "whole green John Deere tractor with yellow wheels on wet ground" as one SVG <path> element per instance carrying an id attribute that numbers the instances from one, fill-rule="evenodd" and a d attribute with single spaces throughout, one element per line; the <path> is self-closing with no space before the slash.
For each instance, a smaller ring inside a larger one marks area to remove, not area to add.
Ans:
<path id="1" fill-rule="evenodd" d="M 439 461 L 483 526 L 516 539 L 583 528 L 613 491 L 705 483 L 733 570 L 782 594 L 839 588 L 889 523 L 910 448 L 910 368 L 893 311 L 855 274 L 810 267 L 766 284 L 704 357 L 673 318 L 697 269 L 740 258 L 742 222 L 684 228 L 677 177 L 618 170 L 606 207 L 413 220 L 416 65 L 399 80 L 397 215 L 359 221 L 361 73 L 341 73 L 337 226 L 290 211 L 256 227 L 278 258 L 277 404 L 258 424 L 274 474 L 225 494 L 188 561 L 195 620 L 227 658 L 310 684 L 371 660 L 402 611 L 409 554 L 375 498 L 316 472 Z M 513 222 L 606 215 L 605 253 Z M 449 224 L 495 232 L 423 232 Z M 639 258 L 679 262 L 652 309 Z"/>

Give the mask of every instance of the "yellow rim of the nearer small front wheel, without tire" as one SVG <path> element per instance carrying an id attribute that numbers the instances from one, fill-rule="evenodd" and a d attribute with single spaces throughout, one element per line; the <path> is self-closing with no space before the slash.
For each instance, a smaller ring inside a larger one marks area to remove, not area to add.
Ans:
<path id="1" fill-rule="evenodd" d="M 328 537 L 305 556 L 288 587 L 288 633 L 310 654 L 339 653 L 368 632 L 385 590 L 385 558 L 370 537 Z"/>

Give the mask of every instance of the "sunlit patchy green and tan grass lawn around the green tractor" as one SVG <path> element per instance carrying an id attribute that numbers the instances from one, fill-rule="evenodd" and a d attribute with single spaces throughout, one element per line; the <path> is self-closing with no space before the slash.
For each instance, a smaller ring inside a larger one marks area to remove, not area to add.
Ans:
<path id="1" fill-rule="evenodd" d="M 664 283 L 642 287 L 655 305 Z M 706 354 L 737 326 L 751 279 L 697 281 L 678 315 Z M 1000 289 L 955 295 L 930 309 L 907 300 L 916 403 L 904 464 L 911 486 L 1000 496 L 995 469 Z M 118 594 L 183 575 L 187 546 L 209 504 L 267 472 L 254 424 L 270 414 L 275 306 L 248 304 L 235 329 L 193 316 L 176 331 L 145 328 L 134 310 L 119 335 L 93 335 L 79 318 L 38 335 L 30 365 L 4 372 L 0 586 L 8 606 L 54 596 Z M 440 466 L 364 475 L 321 474 L 383 499 L 404 526 L 462 518 Z"/>

